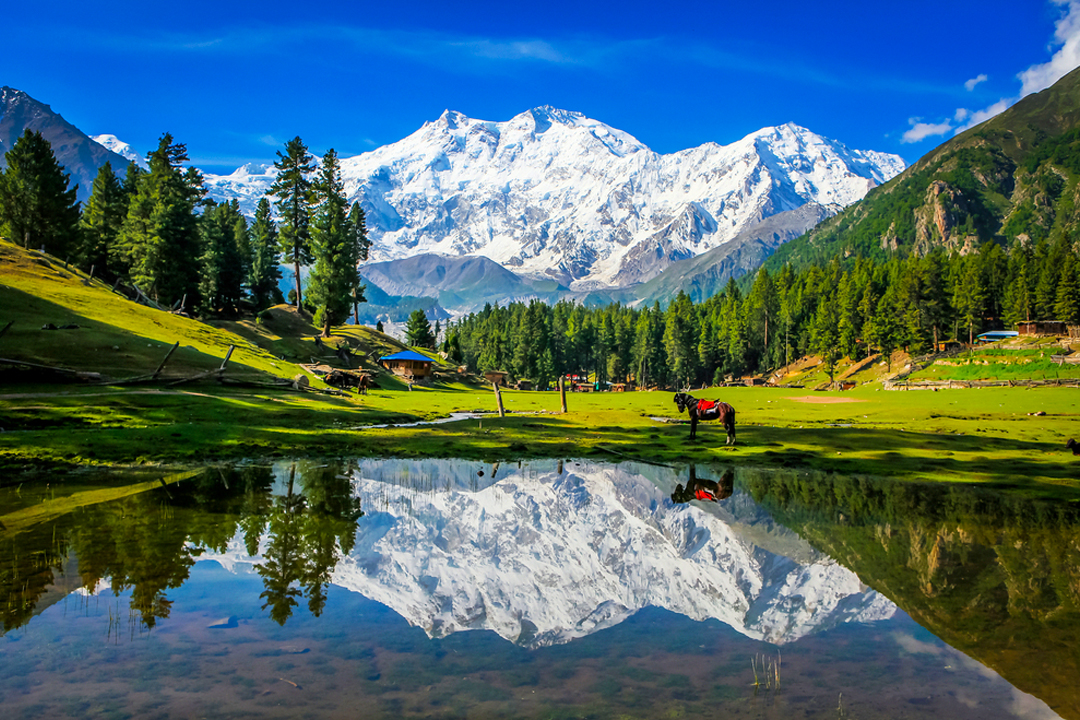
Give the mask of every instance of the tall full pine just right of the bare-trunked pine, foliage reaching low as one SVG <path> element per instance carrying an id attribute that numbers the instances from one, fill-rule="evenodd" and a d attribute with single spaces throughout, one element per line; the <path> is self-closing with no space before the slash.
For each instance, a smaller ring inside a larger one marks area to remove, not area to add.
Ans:
<path id="1" fill-rule="evenodd" d="M 308 299 L 315 307 L 315 325 L 329 337 L 330 326 L 340 325 L 357 285 L 355 239 L 346 215 L 347 201 L 337 152 L 323 155 L 314 182 L 318 205 L 311 223 L 314 266 L 308 280 Z"/>

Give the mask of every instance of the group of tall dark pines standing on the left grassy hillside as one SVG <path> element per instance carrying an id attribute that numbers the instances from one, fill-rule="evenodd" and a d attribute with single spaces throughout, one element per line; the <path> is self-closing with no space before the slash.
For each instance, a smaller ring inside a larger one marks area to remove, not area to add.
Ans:
<path id="1" fill-rule="evenodd" d="M 207 198 L 202 175 L 186 165 L 187 147 L 167 133 L 147 153 L 148 169 L 131 163 L 121 178 L 103 165 L 85 207 L 40 133 L 27 130 L 4 157 L 0 232 L 95 276 L 126 281 L 163 307 L 202 316 L 258 312 L 284 301 L 283 262 L 296 273 L 291 301 L 310 309 L 324 335 L 364 301 L 359 263 L 370 242 L 333 149 L 316 164 L 299 137 L 289 140 L 251 222 L 235 200 Z M 310 267 L 307 298 L 301 266 Z"/>

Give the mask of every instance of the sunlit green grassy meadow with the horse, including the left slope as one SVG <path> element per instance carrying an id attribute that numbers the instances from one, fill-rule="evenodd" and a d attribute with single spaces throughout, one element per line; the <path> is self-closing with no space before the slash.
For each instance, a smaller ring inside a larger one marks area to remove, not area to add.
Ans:
<path id="1" fill-rule="evenodd" d="M 288 309 L 275 309 L 259 322 L 200 323 L 135 304 L 53 258 L 0 242 L 0 328 L 9 321 L 13 325 L 0 337 L 0 357 L 116 380 L 152 372 L 179 342 L 163 371 L 167 380 L 218 367 L 234 345 L 230 378 L 307 375 L 313 388 L 325 389 L 298 363 L 323 362 L 329 351 L 315 345 L 314 328 Z M 79 328 L 40 329 L 45 323 Z M 337 328 L 327 344 L 339 342 L 363 351 L 361 366 L 373 371 L 375 357 L 402 348 L 355 326 Z M 734 447 L 726 447 L 723 429 L 708 423 L 689 443 L 686 416 L 677 417 L 671 394 L 659 391 L 569 393 L 563 415 L 556 392 L 504 390 L 505 418 L 374 426 L 496 411 L 489 385 L 441 369 L 445 372 L 431 386 L 409 391 L 380 375 L 380 388 L 367 395 L 328 395 L 212 379 L 179 385 L 120 385 L 108 379 L 57 383 L 9 368 L 0 372 L 0 485 L 21 481 L 29 470 L 56 473 L 84 465 L 183 466 L 292 457 L 589 457 L 806 467 L 1080 499 L 1080 458 L 1074 460 L 1065 448 L 1066 439 L 1080 436 L 1080 394 L 1072 389 L 890 392 L 866 381 L 843 393 L 813 392 L 809 382 L 800 383 L 806 389 L 696 392 L 735 407 Z M 820 368 L 807 377 L 815 371 Z"/>

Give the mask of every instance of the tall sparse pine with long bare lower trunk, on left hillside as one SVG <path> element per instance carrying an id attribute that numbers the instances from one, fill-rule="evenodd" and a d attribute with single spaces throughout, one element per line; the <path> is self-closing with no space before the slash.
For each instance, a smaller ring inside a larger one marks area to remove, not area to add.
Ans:
<path id="1" fill-rule="evenodd" d="M 270 186 L 267 194 L 278 200 L 278 214 L 281 217 L 279 239 L 281 250 L 293 263 L 296 277 L 296 309 L 303 304 L 300 289 L 300 266 L 310 264 L 311 255 L 311 207 L 313 189 L 310 175 L 315 171 L 313 158 L 299 136 L 285 144 L 285 154 L 278 152 L 278 178 Z"/>

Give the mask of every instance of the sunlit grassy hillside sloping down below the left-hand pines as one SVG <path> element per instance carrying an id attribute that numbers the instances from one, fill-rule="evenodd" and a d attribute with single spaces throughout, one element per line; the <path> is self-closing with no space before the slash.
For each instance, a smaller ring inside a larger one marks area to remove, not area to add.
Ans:
<path id="1" fill-rule="evenodd" d="M 221 365 L 230 345 L 228 375 L 240 379 L 292 379 L 307 373 L 298 363 L 329 362 L 339 344 L 356 352 L 362 367 L 380 371 L 375 359 L 405 345 L 364 326 L 336 328 L 320 348 L 310 318 L 287 305 L 258 321 L 203 323 L 129 300 L 98 280 L 48 255 L 0 240 L 0 357 L 119 380 L 152 372 L 175 342 L 162 375 L 183 378 Z M 57 328 L 45 329 L 52 325 Z M 314 377 L 309 375 L 309 379 Z M 8 373 L 8 380 L 18 372 Z M 388 381 L 393 382 L 388 379 Z"/>

